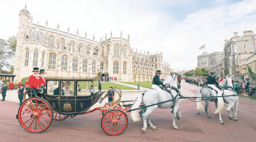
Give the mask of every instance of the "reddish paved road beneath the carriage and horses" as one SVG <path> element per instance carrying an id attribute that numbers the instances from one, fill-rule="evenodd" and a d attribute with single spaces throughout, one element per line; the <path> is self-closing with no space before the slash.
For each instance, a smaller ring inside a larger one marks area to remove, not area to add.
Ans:
<path id="1" fill-rule="evenodd" d="M 199 88 L 182 82 L 181 94 L 195 95 Z M 134 94 L 134 96 L 137 94 Z M 207 118 L 205 113 L 196 117 L 196 104 L 189 100 L 180 103 L 181 120 L 176 124 L 180 130 L 172 126 L 170 109 L 156 109 L 151 115 L 152 123 L 158 130 L 147 129 L 141 132 L 142 122 L 131 122 L 120 136 L 107 136 L 100 126 L 100 112 L 54 121 L 51 127 L 40 134 L 32 134 L 23 130 L 15 119 L 18 111 L 17 103 L 0 102 L 0 141 L 255 141 L 256 139 L 256 102 L 240 98 L 238 121 L 228 119 L 228 113 L 222 113 L 224 125 L 218 123 L 214 115 L 214 104 L 210 103 Z"/>

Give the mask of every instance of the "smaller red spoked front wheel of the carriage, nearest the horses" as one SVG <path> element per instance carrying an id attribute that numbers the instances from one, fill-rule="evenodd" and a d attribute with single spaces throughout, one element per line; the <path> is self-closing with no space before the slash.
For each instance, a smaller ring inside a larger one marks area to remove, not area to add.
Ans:
<path id="1" fill-rule="evenodd" d="M 127 125 L 127 116 L 125 112 L 121 110 L 110 110 L 106 112 L 101 119 L 102 130 L 110 136 L 120 135 L 125 131 Z"/>

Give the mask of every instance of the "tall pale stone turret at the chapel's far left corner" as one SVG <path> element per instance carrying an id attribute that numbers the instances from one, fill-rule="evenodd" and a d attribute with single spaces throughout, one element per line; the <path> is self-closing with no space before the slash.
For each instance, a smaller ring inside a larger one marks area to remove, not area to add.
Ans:
<path id="1" fill-rule="evenodd" d="M 29 22 L 30 12 L 27 10 L 27 6 L 24 9 L 19 11 L 19 27 L 17 34 L 17 43 L 16 43 L 16 52 L 15 52 L 15 66 L 14 66 L 14 74 L 17 76 L 20 74 L 20 68 L 22 62 L 22 45 L 23 39 L 26 38 Z M 15 81 L 20 81 L 22 78 L 15 77 Z"/>

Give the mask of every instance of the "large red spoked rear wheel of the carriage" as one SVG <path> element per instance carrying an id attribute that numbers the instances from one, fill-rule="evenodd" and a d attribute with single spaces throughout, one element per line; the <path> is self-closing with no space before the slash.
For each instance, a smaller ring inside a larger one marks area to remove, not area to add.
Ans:
<path id="1" fill-rule="evenodd" d="M 52 107 L 43 98 L 28 98 L 19 107 L 19 124 L 28 132 L 46 131 L 51 126 L 52 119 Z"/>

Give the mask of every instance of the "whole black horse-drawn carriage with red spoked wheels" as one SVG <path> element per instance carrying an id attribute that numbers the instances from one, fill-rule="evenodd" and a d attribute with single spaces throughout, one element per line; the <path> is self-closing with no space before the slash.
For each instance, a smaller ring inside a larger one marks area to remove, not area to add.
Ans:
<path id="1" fill-rule="evenodd" d="M 102 113 L 101 127 L 108 135 L 119 135 L 127 127 L 127 116 L 121 110 L 114 110 L 119 106 L 121 90 L 114 88 L 113 102 L 104 106 L 89 110 L 99 100 L 102 102 L 105 92 L 101 91 L 101 83 L 98 80 L 65 80 L 47 79 L 46 88 L 40 88 L 37 92 L 28 89 L 24 92 L 24 101 L 20 105 L 16 118 L 20 126 L 32 133 L 46 131 L 53 120 L 64 120 L 69 116 L 87 114 L 95 110 Z M 112 129 L 110 130 L 110 126 Z"/>

